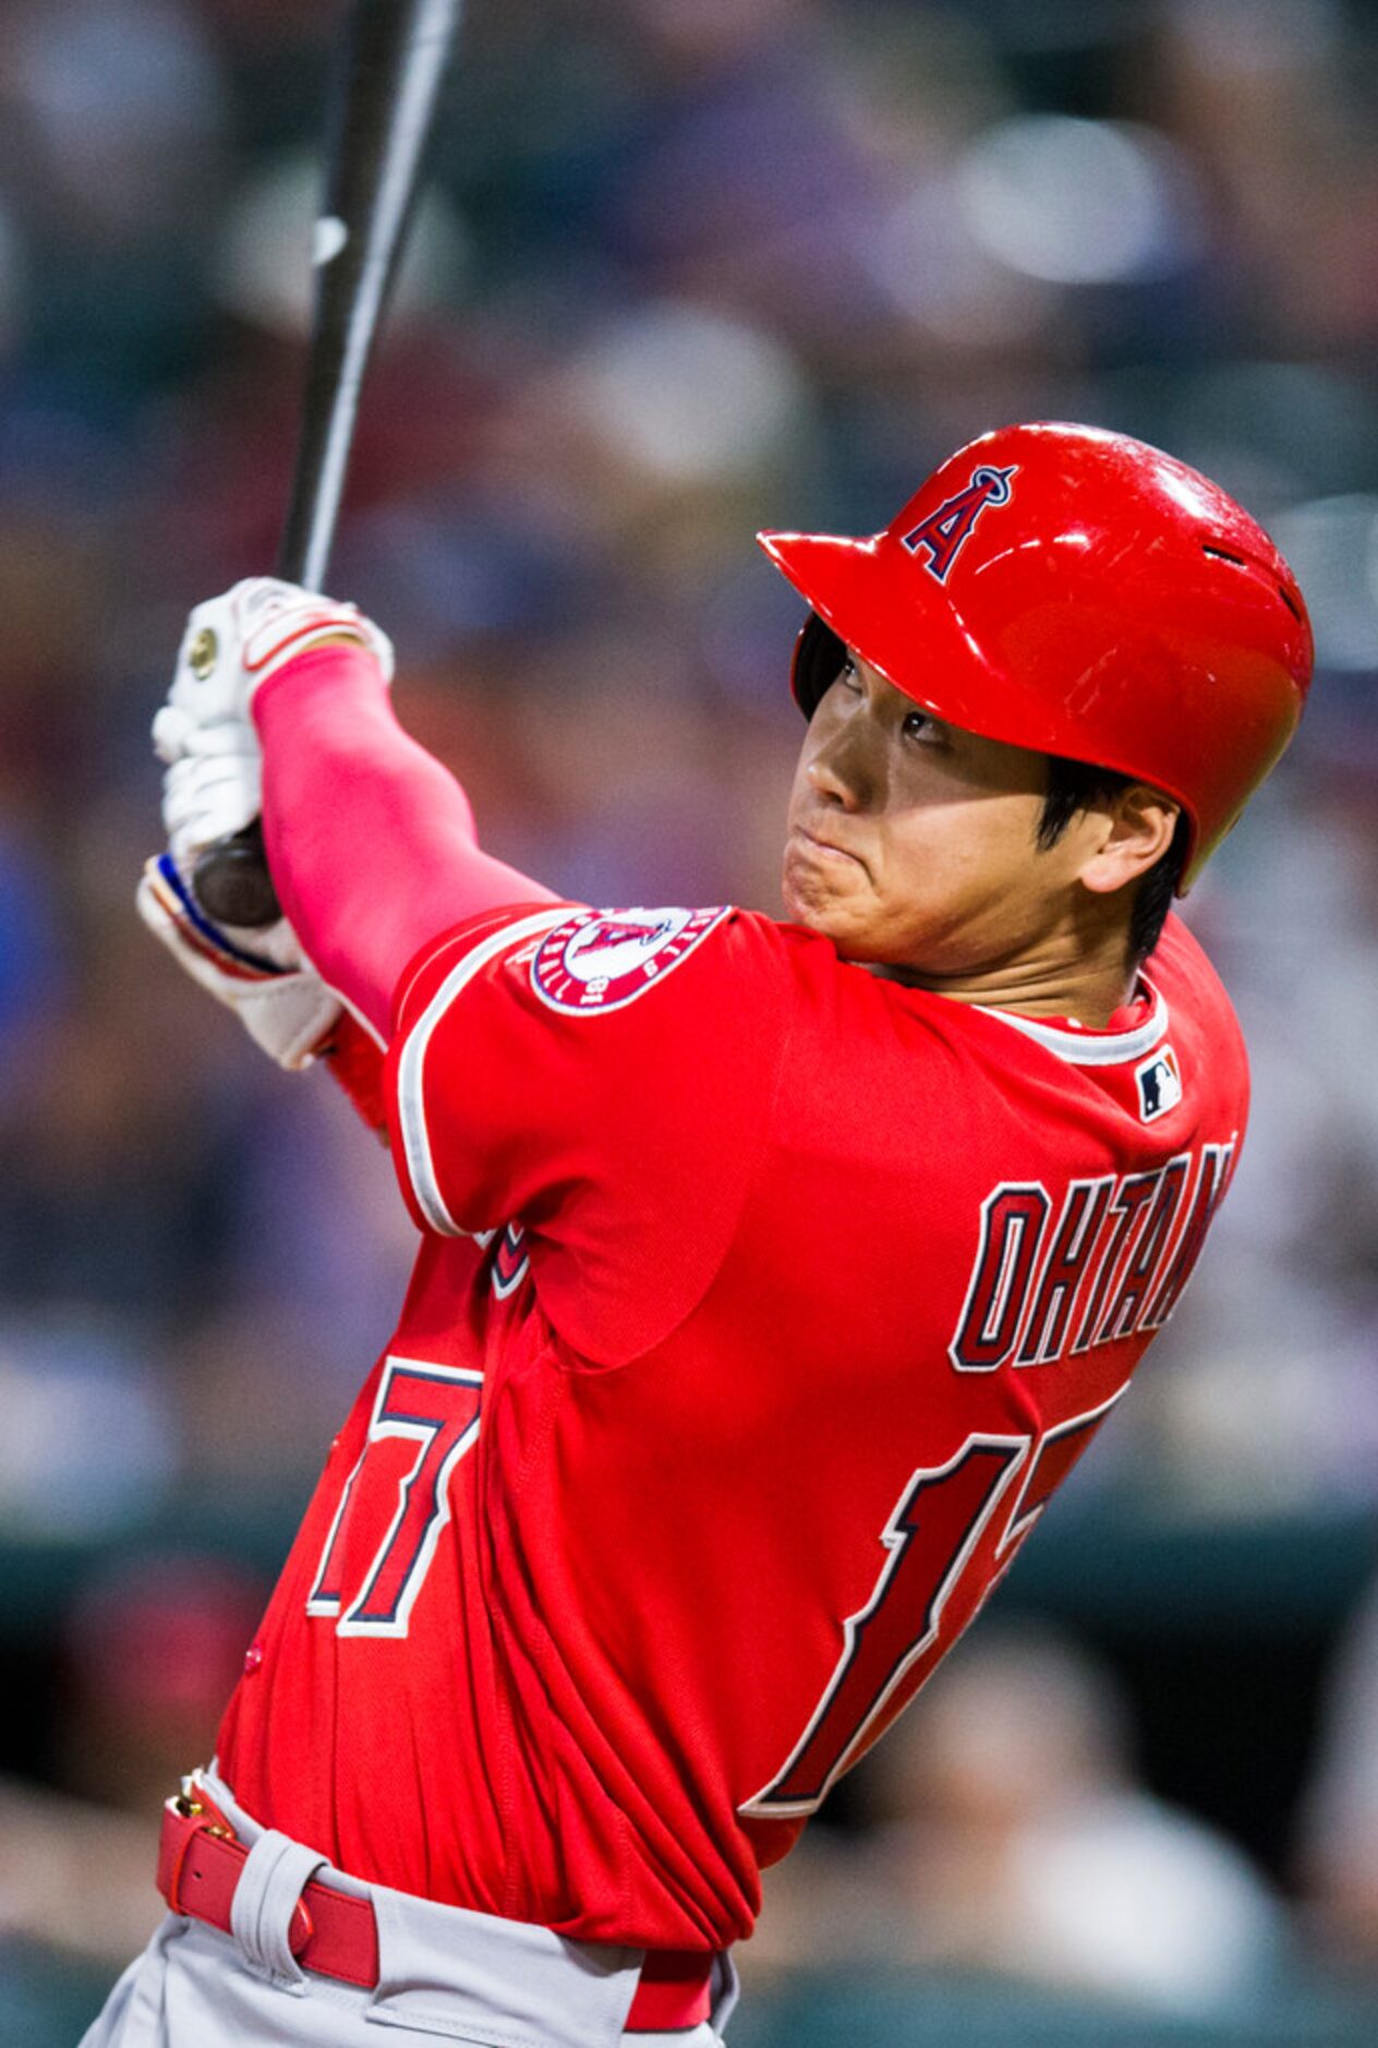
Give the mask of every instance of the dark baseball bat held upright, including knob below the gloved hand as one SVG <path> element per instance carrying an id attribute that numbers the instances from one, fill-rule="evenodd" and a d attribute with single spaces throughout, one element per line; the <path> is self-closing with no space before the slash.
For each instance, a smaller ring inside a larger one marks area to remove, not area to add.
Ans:
<path id="1" fill-rule="evenodd" d="M 319 590 L 336 532 L 358 393 L 412 217 L 426 137 L 461 0 L 354 0 L 332 102 L 326 199 L 315 223 L 315 311 L 301 434 L 276 575 Z M 197 901 L 217 924 L 281 918 L 262 821 L 197 862 Z"/>

